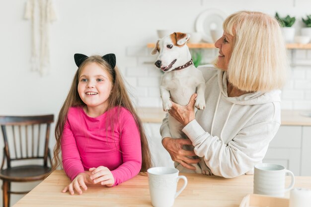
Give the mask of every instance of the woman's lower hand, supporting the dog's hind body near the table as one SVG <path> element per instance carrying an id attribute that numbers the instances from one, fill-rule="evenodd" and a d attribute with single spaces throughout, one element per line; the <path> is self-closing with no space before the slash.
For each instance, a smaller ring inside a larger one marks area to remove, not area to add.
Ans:
<path id="1" fill-rule="evenodd" d="M 162 139 L 162 144 L 168 151 L 172 160 L 180 163 L 185 168 L 195 170 L 195 167 L 190 164 L 200 162 L 200 159 L 191 159 L 187 157 L 196 156 L 194 151 L 184 150 L 182 148 L 183 145 L 192 145 L 190 139 L 165 137 Z"/>

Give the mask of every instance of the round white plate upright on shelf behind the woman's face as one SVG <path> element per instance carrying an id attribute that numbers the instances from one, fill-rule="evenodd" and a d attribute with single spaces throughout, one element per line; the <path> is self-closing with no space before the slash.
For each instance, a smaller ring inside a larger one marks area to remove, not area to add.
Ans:
<path id="1" fill-rule="evenodd" d="M 202 34 L 205 42 L 213 43 L 211 30 L 223 30 L 223 22 L 226 18 L 227 15 L 219 9 L 207 9 L 198 16 L 195 29 Z"/>

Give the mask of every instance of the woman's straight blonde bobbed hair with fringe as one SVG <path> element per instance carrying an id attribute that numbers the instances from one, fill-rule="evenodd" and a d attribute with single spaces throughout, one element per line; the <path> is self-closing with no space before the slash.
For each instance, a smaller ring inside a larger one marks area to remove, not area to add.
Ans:
<path id="1" fill-rule="evenodd" d="M 278 21 L 261 12 L 239 11 L 227 17 L 223 28 L 234 37 L 227 70 L 233 86 L 243 91 L 280 89 L 289 64 Z"/>

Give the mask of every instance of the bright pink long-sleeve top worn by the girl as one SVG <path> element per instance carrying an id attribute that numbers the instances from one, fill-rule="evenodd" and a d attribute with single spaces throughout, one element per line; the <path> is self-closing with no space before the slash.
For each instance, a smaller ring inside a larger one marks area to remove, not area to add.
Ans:
<path id="1" fill-rule="evenodd" d="M 117 107 L 113 114 L 117 116 Z M 113 131 L 107 126 L 107 112 L 92 118 L 82 107 L 71 107 L 61 139 L 63 167 L 73 180 L 91 167 L 107 167 L 114 186 L 136 176 L 142 167 L 140 133 L 133 115 L 120 109 Z M 107 130 L 106 130 L 107 129 Z"/>

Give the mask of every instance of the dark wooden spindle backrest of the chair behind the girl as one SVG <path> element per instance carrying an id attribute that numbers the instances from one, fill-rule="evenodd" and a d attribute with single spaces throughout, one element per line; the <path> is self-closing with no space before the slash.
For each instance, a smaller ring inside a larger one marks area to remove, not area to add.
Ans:
<path id="1" fill-rule="evenodd" d="M 40 116 L 0 116 L 0 125 L 4 140 L 4 157 L 7 167 L 11 167 L 11 161 L 23 159 L 44 160 L 47 166 L 48 157 L 51 161 L 48 147 L 50 137 L 50 125 L 54 122 L 54 115 Z M 12 146 L 13 145 L 13 146 Z M 40 146 L 43 145 L 43 152 Z M 11 153 L 10 153 L 11 151 Z"/>

